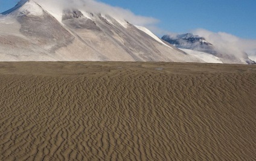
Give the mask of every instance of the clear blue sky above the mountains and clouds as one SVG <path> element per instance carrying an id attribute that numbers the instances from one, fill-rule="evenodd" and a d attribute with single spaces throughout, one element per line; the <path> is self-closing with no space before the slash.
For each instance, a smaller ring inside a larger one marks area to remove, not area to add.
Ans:
<path id="1" fill-rule="evenodd" d="M 0 12 L 18 0 L 0 0 Z M 227 32 L 241 38 L 256 39 L 255 0 L 101 0 L 106 4 L 129 9 L 141 16 L 154 17 L 166 32 L 184 33 L 203 28 Z M 163 32 L 164 34 L 164 32 Z"/>

